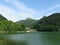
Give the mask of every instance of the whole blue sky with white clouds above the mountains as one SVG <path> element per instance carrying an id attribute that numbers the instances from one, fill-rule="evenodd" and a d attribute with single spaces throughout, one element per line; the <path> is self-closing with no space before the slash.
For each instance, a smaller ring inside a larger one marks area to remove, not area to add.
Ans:
<path id="1" fill-rule="evenodd" d="M 60 13 L 60 0 L 0 0 L 0 14 L 11 21 Z"/>

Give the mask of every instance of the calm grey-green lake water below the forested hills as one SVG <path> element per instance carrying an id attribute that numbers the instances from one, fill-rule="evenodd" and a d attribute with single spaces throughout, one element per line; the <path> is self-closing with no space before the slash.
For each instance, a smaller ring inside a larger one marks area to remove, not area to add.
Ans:
<path id="1" fill-rule="evenodd" d="M 4 34 L 4 39 L 26 43 L 25 45 L 60 45 L 60 32 L 35 32 L 26 34 Z M 24 45 L 21 44 L 21 45 Z M 16 44 L 19 45 L 19 44 Z"/>

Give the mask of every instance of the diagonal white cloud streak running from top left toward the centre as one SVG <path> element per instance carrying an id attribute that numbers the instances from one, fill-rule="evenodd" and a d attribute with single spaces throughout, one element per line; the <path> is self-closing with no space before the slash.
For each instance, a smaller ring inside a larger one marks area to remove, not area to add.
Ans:
<path id="1" fill-rule="evenodd" d="M 26 12 L 26 13 L 30 13 L 30 14 L 35 14 L 37 13 L 37 11 L 35 11 L 32 8 L 27 8 L 27 6 L 25 4 L 23 4 L 22 2 L 19 2 L 17 0 L 13 0 L 12 3 L 16 6 L 16 8 L 18 10 L 20 10 L 21 12 Z"/>

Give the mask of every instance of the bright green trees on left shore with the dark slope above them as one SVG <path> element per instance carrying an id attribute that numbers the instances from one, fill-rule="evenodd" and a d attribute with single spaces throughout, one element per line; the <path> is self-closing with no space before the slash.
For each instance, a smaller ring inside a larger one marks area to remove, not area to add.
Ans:
<path id="1" fill-rule="evenodd" d="M 25 26 L 7 20 L 0 14 L 0 31 L 26 31 Z"/>

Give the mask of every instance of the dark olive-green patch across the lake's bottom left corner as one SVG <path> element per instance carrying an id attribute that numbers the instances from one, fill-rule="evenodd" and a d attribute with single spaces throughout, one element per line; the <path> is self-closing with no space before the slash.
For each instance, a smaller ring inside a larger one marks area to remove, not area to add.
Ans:
<path id="1" fill-rule="evenodd" d="M 25 40 L 15 41 L 5 38 L 4 35 L 0 35 L 0 45 L 27 45 L 27 41 Z"/>

